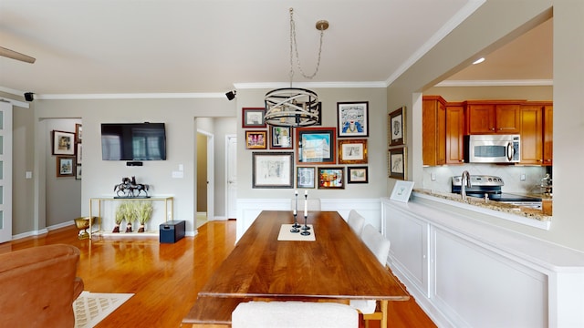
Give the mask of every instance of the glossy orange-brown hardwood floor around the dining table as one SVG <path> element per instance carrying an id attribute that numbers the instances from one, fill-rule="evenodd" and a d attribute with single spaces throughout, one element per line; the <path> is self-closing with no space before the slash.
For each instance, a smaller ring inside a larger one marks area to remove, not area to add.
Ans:
<path id="1" fill-rule="evenodd" d="M 172 244 L 161 244 L 155 237 L 94 236 L 92 241 L 79 241 L 77 230 L 70 226 L 2 243 L 0 253 L 55 243 L 81 251 L 78 276 L 86 291 L 135 293 L 98 328 L 180 327 L 197 292 L 233 250 L 235 220 L 209 221 L 196 237 Z M 390 327 L 435 327 L 413 299 L 390 302 L 389 314 Z"/>

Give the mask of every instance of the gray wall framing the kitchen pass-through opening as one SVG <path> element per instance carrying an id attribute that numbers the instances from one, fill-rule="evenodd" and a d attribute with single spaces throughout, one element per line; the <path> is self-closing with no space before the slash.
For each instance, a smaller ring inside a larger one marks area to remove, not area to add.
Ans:
<path id="1" fill-rule="evenodd" d="M 491 220 L 509 229 L 584 251 L 581 205 L 584 183 L 584 3 L 575 0 L 487 1 L 474 15 L 388 87 L 390 108 L 407 104 L 412 179 L 423 184 L 421 93 L 470 65 L 474 56 L 501 40 L 516 37 L 554 16 L 554 215 L 549 231 L 503 220 Z M 494 24 L 496 22 L 496 24 Z M 477 37 L 480 36 L 480 37 Z M 388 181 L 390 188 L 394 181 Z"/>

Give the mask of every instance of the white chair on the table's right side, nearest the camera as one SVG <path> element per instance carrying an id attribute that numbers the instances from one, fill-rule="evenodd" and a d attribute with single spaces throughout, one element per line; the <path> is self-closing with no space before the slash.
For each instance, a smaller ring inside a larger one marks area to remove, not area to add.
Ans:
<path id="1" fill-rule="evenodd" d="M 381 265 L 385 266 L 387 257 L 390 254 L 391 242 L 381 235 L 372 225 L 366 224 L 361 232 L 361 241 L 375 255 Z M 370 320 L 380 320 L 387 323 L 387 312 L 381 309 L 376 300 L 351 300 L 349 305 L 359 310 L 363 314 L 365 327 L 369 327 Z M 385 327 L 382 327 L 385 328 Z"/>

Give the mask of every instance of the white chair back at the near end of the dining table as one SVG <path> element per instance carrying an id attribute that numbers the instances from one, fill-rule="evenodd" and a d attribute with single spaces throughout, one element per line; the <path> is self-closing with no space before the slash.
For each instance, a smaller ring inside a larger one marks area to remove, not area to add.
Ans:
<path id="1" fill-rule="evenodd" d="M 233 328 L 356 328 L 359 313 L 337 302 L 241 302 L 231 314 Z"/>

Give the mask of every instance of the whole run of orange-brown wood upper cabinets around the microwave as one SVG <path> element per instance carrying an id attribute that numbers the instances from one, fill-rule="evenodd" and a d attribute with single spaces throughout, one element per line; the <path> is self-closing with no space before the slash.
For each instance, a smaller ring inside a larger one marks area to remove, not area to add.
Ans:
<path id="1" fill-rule="evenodd" d="M 553 103 L 527 100 L 448 102 L 422 98 L 422 161 L 436 166 L 464 163 L 464 136 L 518 134 L 520 164 L 553 164 Z"/>

